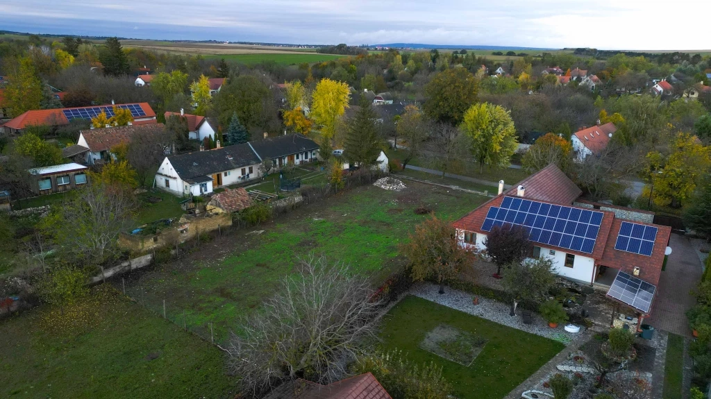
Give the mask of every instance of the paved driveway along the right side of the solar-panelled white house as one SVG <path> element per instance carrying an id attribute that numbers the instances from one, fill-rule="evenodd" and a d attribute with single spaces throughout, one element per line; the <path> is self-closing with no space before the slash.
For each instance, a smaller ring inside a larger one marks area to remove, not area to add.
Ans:
<path id="1" fill-rule="evenodd" d="M 695 303 L 690 291 L 701 279 L 701 261 L 685 236 L 672 234 L 669 246 L 673 251 L 659 278 L 652 316 L 644 322 L 656 329 L 691 337 L 686 311 Z"/>

